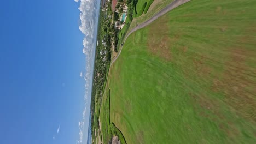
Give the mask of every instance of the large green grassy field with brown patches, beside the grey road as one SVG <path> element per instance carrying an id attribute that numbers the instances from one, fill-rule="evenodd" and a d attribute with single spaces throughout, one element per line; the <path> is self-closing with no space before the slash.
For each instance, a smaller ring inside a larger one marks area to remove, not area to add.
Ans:
<path id="1" fill-rule="evenodd" d="M 254 7 L 191 1 L 130 35 L 108 77 L 127 143 L 255 142 Z"/>

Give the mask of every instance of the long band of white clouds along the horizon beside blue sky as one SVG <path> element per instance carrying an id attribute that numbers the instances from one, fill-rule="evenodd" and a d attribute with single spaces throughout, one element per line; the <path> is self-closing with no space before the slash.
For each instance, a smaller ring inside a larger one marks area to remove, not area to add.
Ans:
<path id="1" fill-rule="evenodd" d="M 79 2 L 79 0 L 74 0 Z M 95 57 L 95 46 L 96 46 L 96 34 L 97 34 L 97 15 L 100 10 L 100 1 L 98 0 L 80 0 L 80 21 L 81 25 L 79 26 L 80 31 L 84 34 L 83 39 L 83 53 L 85 54 L 85 71 L 80 73 L 80 77 L 83 77 L 85 80 L 85 93 L 84 101 L 85 107 L 82 112 L 82 121 L 79 121 L 79 136 L 78 143 L 83 142 L 83 131 L 85 121 L 88 121 L 89 112 L 86 112 L 86 105 L 88 101 L 88 96 L 91 94 L 92 86 L 92 74 L 93 74 L 93 65 Z M 90 97 L 89 97 L 90 98 Z M 86 124 L 87 125 L 87 124 Z M 85 134 L 86 135 L 86 134 Z"/>

